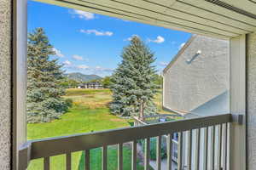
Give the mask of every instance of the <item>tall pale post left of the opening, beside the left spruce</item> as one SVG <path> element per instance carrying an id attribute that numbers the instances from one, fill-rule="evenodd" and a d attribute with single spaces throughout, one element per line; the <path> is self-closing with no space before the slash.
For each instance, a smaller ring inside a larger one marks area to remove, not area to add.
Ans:
<path id="1" fill-rule="evenodd" d="M 19 148 L 26 143 L 27 0 L 13 0 L 12 13 L 12 169 L 18 167 Z M 3 25 L 1 23 L 1 25 Z M 2 29 L 2 27 L 1 27 Z M 1 40 L 3 41 L 3 40 Z M 1 49 L 3 50 L 3 49 Z"/>

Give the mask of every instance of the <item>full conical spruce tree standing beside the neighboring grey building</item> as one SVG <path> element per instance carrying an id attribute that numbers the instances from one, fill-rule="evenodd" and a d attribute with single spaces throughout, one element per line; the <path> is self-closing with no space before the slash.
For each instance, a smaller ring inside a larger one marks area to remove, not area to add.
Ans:
<path id="1" fill-rule="evenodd" d="M 113 72 L 111 89 L 113 102 L 110 109 L 121 116 L 154 114 L 153 99 L 156 93 L 154 54 L 140 40 L 132 37 L 131 43 L 123 49 L 122 62 Z"/>

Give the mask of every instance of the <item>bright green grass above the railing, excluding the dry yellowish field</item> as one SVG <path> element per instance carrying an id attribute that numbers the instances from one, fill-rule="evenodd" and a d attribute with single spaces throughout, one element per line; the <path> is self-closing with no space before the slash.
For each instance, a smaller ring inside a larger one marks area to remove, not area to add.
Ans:
<path id="1" fill-rule="evenodd" d="M 110 115 L 108 108 L 88 109 L 83 105 L 74 105 L 60 120 L 28 124 L 27 138 L 43 139 L 127 126 L 129 123 L 125 120 Z"/>

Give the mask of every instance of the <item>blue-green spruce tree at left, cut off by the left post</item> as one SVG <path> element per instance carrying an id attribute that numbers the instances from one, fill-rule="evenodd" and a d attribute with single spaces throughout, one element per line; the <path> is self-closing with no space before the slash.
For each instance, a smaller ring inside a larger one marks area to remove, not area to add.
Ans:
<path id="1" fill-rule="evenodd" d="M 61 99 L 63 71 L 43 28 L 28 35 L 27 44 L 27 122 L 49 122 L 67 111 L 67 103 Z"/>

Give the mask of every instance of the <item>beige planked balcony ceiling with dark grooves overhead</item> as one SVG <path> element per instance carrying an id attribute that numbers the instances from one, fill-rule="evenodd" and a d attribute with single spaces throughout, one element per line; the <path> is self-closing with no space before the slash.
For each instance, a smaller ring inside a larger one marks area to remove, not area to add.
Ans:
<path id="1" fill-rule="evenodd" d="M 38 1 L 211 37 L 256 31 L 256 0 Z"/>

